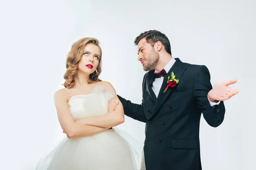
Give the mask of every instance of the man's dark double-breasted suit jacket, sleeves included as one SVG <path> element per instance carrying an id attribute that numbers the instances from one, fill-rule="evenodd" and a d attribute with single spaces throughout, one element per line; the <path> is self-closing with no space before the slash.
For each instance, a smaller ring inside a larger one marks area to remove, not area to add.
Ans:
<path id="1" fill-rule="evenodd" d="M 176 62 L 163 79 L 158 97 L 151 86 L 149 71 L 143 78 L 142 104 L 118 96 L 125 115 L 145 122 L 144 155 L 146 170 L 201 170 L 199 125 L 201 113 L 212 127 L 221 125 L 225 107 L 221 101 L 210 106 L 210 73 L 204 65 Z M 180 79 L 175 88 L 163 93 L 170 72 Z"/>

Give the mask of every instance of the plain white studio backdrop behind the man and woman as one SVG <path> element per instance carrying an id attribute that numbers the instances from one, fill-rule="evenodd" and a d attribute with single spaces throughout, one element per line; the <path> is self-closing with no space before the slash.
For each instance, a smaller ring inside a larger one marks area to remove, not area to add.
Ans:
<path id="1" fill-rule="evenodd" d="M 73 42 L 97 38 L 100 78 L 141 103 L 145 72 L 133 41 L 157 29 L 169 37 L 173 57 L 209 68 L 212 85 L 238 80 L 222 125 L 201 119 L 203 170 L 254 170 L 255 9 L 255 0 L 1 0 L 0 169 L 33 170 L 64 137 L 53 94 L 63 88 Z M 125 118 L 119 127 L 143 144 L 144 123 Z"/>

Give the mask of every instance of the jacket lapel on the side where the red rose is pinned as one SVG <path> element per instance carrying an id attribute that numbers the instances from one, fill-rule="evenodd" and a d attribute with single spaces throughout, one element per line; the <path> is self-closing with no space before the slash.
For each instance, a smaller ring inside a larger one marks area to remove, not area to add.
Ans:
<path id="1" fill-rule="evenodd" d="M 163 84 L 160 88 L 159 94 L 157 96 L 153 111 L 151 113 L 151 117 L 157 113 L 157 111 L 161 108 L 161 106 L 163 105 L 163 103 L 166 101 L 166 99 L 168 99 L 168 97 L 170 96 L 170 94 L 172 93 L 172 88 L 168 88 L 168 90 L 163 93 L 164 89 L 167 86 L 167 80 L 168 80 L 168 76 L 170 75 L 170 73 L 173 71 L 175 78 L 176 79 L 180 79 L 180 77 L 182 76 L 183 72 L 185 71 L 186 68 L 182 67 L 182 62 L 180 61 L 179 58 L 175 58 L 176 62 L 174 63 L 174 65 L 172 66 L 172 68 L 168 71 L 168 73 L 166 74 L 166 77 L 164 77 L 163 79 Z M 179 85 L 179 83 L 177 84 L 177 86 Z"/>

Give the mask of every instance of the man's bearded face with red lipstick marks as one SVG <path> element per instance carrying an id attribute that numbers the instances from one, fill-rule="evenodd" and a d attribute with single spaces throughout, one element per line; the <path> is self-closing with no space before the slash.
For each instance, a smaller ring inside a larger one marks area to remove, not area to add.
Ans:
<path id="1" fill-rule="evenodd" d="M 154 70 L 159 61 L 159 54 L 145 38 L 138 43 L 138 60 L 143 65 L 144 71 Z"/>

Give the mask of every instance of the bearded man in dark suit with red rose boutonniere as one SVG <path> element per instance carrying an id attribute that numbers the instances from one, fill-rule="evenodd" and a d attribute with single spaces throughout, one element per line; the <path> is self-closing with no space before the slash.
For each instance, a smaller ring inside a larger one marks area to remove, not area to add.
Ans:
<path id="1" fill-rule="evenodd" d="M 238 93 L 228 87 L 236 80 L 212 88 L 207 67 L 173 58 L 170 42 L 160 31 L 145 31 L 134 43 L 138 60 L 148 71 L 142 104 L 118 97 L 125 115 L 146 123 L 143 166 L 146 170 L 201 170 L 201 113 L 210 126 L 221 125 L 223 101 Z"/>

